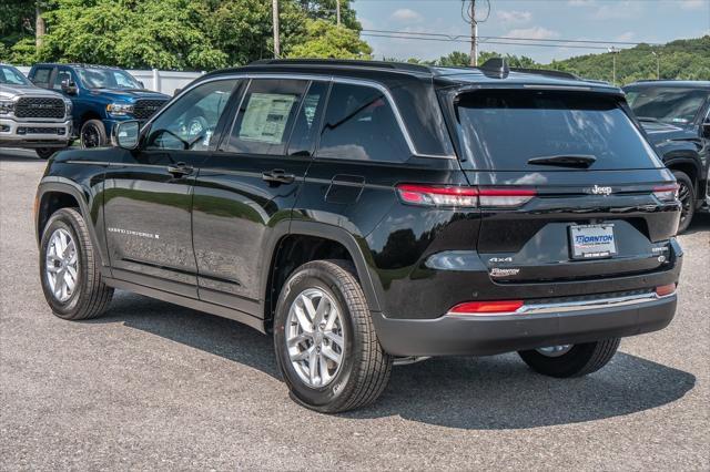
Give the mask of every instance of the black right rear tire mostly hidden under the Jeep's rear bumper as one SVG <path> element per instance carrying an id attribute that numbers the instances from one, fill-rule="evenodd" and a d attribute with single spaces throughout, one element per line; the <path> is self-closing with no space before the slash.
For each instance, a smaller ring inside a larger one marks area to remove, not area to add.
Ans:
<path id="1" fill-rule="evenodd" d="M 605 367 L 619 348 L 619 338 L 575 345 L 559 355 L 544 355 L 538 350 L 519 351 L 518 355 L 532 370 L 544 376 L 581 377 Z"/>

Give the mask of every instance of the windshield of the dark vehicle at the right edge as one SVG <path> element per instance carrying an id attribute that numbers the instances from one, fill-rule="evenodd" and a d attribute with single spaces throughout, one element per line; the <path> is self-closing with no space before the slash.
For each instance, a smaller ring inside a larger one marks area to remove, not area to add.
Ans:
<path id="1" fill-rule="evenodd" d="M 628 89 L 627 100 L 640 119 L 665 123 L 692 123 L 710 92 L 678 86 L 645 86 Z"/>

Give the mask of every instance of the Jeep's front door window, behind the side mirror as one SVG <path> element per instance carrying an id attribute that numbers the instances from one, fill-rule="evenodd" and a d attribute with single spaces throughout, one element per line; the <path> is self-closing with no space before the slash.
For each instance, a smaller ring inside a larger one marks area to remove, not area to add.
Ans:
<path id="1" fill-rule="evenodd" d="M 151 124 L 146 148 L 209 150 L 236 82 L 209 82 L 186 92 Z"/>

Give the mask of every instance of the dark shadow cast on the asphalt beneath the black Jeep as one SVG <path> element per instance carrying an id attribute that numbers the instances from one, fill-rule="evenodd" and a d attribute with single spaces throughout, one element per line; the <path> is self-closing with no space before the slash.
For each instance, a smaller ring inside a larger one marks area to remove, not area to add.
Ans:
<path id="1" fill-rule="evenodd" d="M 105 316 L 87 322 L 116 321 L 281 379 L 271 337 L 236 321 L 120 291 Z M 564 380 L 530 371 L 515 353 L 438 358 L 395 367 L 373 406 L 341 417 L 395 415 L 457 429 L 527 429 L 649 410 L 682 398 L 694 384 L 689 372 L 623 352 L 599 372 Z"/>

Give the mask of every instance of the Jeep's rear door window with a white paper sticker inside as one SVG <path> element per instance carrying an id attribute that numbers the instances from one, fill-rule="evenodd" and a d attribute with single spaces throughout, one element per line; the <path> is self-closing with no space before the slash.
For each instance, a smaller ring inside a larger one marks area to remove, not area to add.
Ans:
<path id="1" fill-rule="evenodd" d="M 282 155 L 307 81 L 252 80 L 242 99 L 229 151 Z"/>

